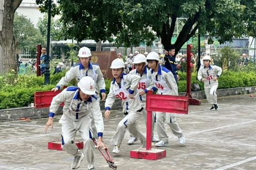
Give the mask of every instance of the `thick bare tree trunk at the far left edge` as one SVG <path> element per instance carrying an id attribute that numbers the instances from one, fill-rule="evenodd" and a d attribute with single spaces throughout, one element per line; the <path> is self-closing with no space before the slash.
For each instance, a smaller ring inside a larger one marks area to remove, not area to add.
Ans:
<path id="1" fill-rule="evenodd" d="M 3 48 L 4 73 L 11 70 L 17 73 L 15 60 L 15 38 L 13 36 L 14 13 L 20 6 L 22 0 L 5 0 L 3 12 L 3 25 L 0 31 L 0 45 Z"/>

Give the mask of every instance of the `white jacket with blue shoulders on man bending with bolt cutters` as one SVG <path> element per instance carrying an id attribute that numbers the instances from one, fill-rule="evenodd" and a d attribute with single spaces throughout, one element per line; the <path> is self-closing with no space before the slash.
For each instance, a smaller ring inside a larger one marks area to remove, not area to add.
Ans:
<path id="1" fill-rule="evenodd" d="M 50 113 L 56 113 L 59 105 L 64 102 L 63 115 L 70 121 L 79 121 L 83 116 L 93 112 L 94 123 L 97 129 L 98 137 L 102 137 L 104 131 L 104 123 L 100 105 L 97 97 L 92 95 L 87 101 L 78 98 L 78 87 L 70 86 L 61 91 L 60 94 L 53 97 L 50 106 Z"/>

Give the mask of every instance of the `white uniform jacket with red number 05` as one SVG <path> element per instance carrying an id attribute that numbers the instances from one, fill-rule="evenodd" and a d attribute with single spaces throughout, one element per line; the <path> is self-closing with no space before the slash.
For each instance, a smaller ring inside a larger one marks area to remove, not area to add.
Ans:
<path id="1" fill-rule="evenodd" d="M 151 69 L 150 69 L 151 70 Z M 137 90 L 138 92 L 144 90 L 147 94 L 148 90 L 151 90 L 153 87 L 153 80 L 151 79 L 151 71 L 145 66 L 145 69 L 142 74 L 140 74 L 137 69 L 131 70 L 129 74 L 139 75 L 141 80 L 138 84 Z M 143 107 L 146 107 L 146 95 L 139 96 L 142 101 Z M 145 109 L 145 108 L 144 108 Z"/>

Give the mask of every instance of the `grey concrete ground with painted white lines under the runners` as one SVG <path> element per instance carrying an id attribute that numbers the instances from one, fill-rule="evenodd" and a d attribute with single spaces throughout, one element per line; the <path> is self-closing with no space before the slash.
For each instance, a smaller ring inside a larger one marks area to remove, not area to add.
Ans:
<path id="1" fill-rule="evenodd" d="M 167 155 L 159 160 L 130 158 L 130 150 L 141 144 L 137 141 L 127 145 L 128 132 L 121 154 L 111 153 L 113 146 L 109 141 L 123 117 L 119 111 L 113 111 L 110 120 L 105 120 L 103 139 L 117 169 L 256 169 L 255 101 L 249 95 L 219 98 L 217 111 L 210 111 L 205 100 L 201 106 L 189 105 L 188 115 L 177 115 L 186 137 L 185 145 L 179 145 L 178 138 L 166 125 L 169 147 L 161 148 L 166 149 Z M 47 149 L 47 142 L 60 138 L 59 118 L 54 118 L 54 129 L 47 133 L 44 133 L 47 118 L 0 123 L 0 169 L 70 169 L 72 156 Z M 138 124 L 146 133 L 142 117 Z M 77 140 L 81 140 L 79 134 Z M 98 150 L 95 166 L 97 170 L 110 169 Z M 85 160 L 79 169 L 87 169 Z"/>

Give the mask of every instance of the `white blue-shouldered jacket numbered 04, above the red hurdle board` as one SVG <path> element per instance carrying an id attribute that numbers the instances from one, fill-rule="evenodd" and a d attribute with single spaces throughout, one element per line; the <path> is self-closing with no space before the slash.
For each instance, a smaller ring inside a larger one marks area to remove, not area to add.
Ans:
<path id="1" fill-rule="evenodd" d="M 153 79 L 153 90 L 156 94 L 178 96 L 178 86 L 172 72 L 158 64 L 158 71 L 151 70 L 151 79 Z"/>

